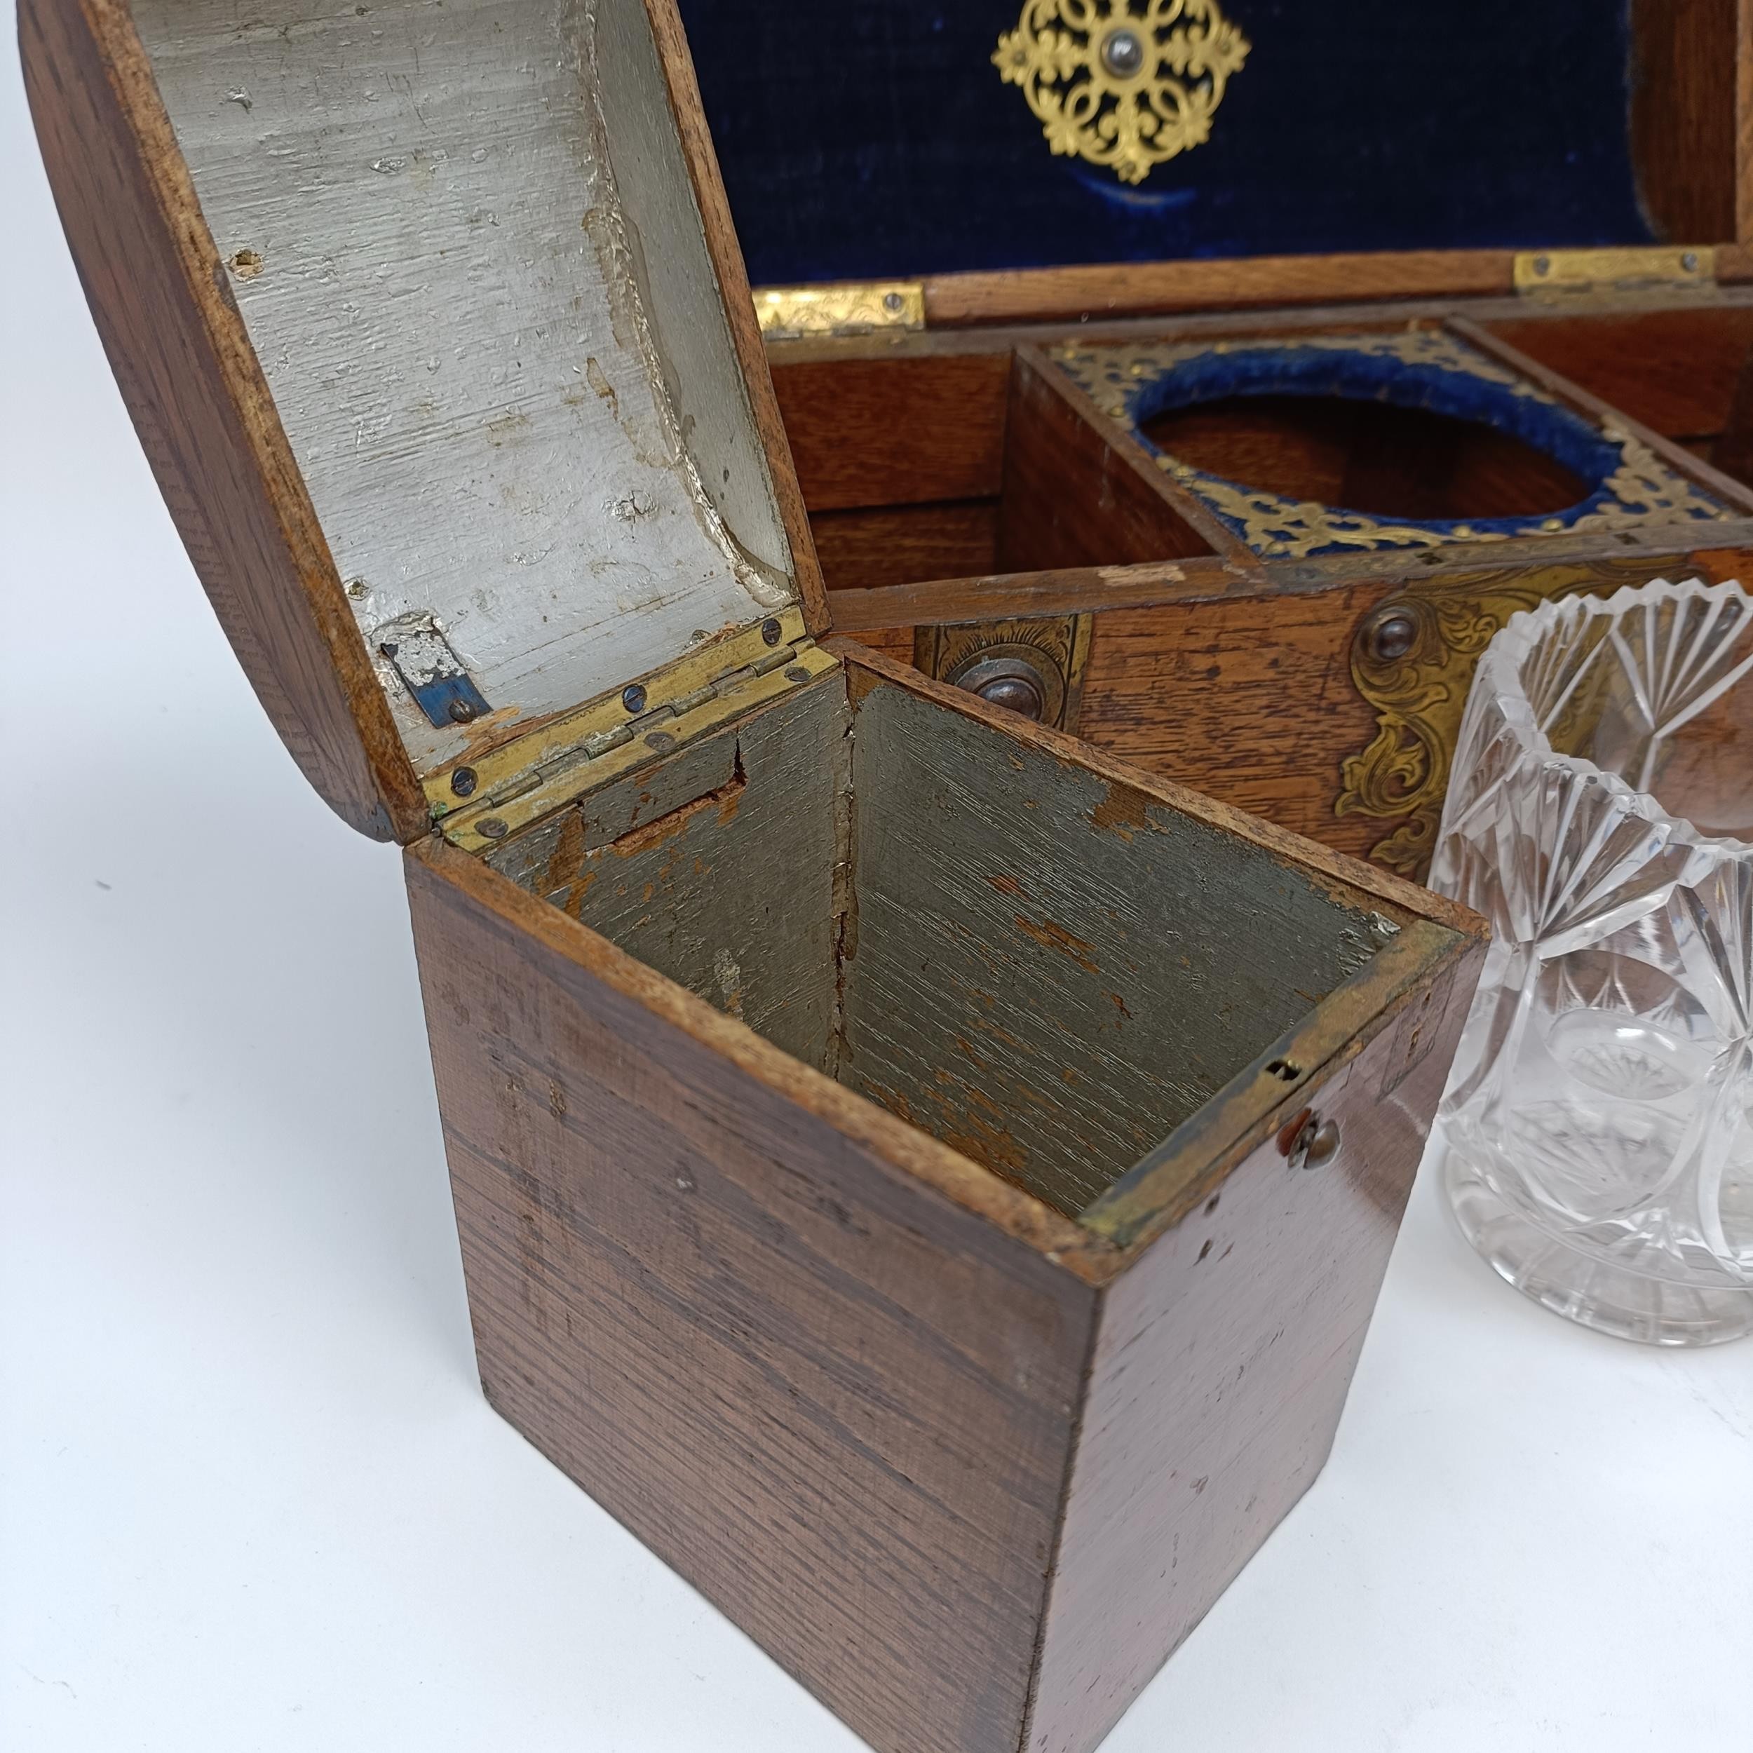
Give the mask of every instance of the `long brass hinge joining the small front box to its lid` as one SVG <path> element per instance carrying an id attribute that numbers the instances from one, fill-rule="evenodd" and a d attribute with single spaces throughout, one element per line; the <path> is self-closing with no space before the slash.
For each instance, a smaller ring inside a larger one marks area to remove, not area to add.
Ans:
<path id="1" fill-rule="evenodd" d="M 426 780 L 445 840 L 486 852 L 563 803 L 838 668 L 787 608 Z"/>

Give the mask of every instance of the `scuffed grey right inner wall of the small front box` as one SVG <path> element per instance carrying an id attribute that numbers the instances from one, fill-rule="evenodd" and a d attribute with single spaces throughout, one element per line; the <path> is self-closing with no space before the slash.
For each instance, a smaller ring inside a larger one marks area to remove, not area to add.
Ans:
<path id="1" fill-rule="evenodd" d="M 1369 899 L 1273 847 L 908 687 L 854 696 L 840 1078 L 1066 1215 L 1380 948 Z"/>

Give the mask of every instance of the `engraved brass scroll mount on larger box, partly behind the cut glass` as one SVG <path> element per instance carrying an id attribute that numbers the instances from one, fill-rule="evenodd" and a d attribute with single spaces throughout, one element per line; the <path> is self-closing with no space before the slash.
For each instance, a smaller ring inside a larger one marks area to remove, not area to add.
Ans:
<path id="1" fill-rule="evenodd" d="M 1513 614 L 1581 591 L 1693 575 L 1685 554 L 1636 561 L 1469 571 L 1418 578 L 1373 608 L 1352 642 L 1352 682 L 1376 710 L 1367 749 L 1341 766 L 1334 815 L 1369 815 L 1399 826 L 1371 848 L 1378 864 L 1423 876 L 1448 792 L 1460 715 L 1480 654 Z"/>

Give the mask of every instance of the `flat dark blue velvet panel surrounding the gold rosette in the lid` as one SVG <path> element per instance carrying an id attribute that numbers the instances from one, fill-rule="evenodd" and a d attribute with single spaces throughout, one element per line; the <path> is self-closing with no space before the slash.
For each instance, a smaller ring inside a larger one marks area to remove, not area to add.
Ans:
<path id="1" fill-rule="evenodd" d="M 1022 0 L 680 0 L 756 284 L 1639 244 L 1629 0 L 1224 0 L 1253 49 L 1138 188 L 990 63 Z"/>

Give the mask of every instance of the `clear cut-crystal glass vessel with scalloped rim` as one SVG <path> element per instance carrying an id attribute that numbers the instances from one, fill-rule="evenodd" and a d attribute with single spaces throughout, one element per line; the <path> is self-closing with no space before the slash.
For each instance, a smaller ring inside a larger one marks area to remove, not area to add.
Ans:
<path id="1" fill-rule="evenodd" d="M 1753 598 L 1516 615 L 1430 885 L 1494 929 L 1444 1101 L 1467 1239 L 1602 1332 L 1753 1331 Z"/>

